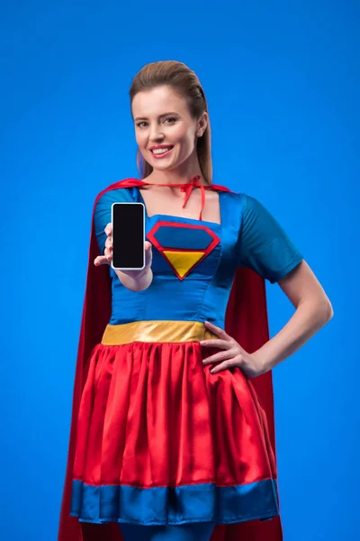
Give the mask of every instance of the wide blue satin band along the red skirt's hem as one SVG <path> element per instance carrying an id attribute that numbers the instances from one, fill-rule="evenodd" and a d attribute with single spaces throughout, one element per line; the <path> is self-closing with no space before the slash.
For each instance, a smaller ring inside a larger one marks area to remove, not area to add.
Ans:
<path id="1" fill-rule="evenodd" d="M 73 481 L 70 515 L 95 524 L 231 524 L 268 520 L 279 515 L 277 483 L 268 479 L 231 487 L 202 483 L 140 489 Z"/>

